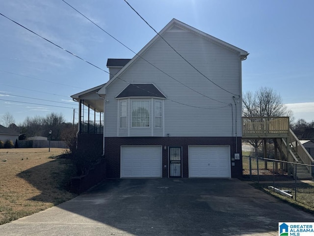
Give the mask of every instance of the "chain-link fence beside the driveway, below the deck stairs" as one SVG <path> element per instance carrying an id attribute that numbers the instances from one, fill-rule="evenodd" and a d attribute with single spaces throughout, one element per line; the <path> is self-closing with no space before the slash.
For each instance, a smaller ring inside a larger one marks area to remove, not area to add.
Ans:
<path id="1" fill-rule="evenodd" d="M 243 177 L 265 191 L 314 208 L 313 166 L 269 158 L 243 156 Z"/>

